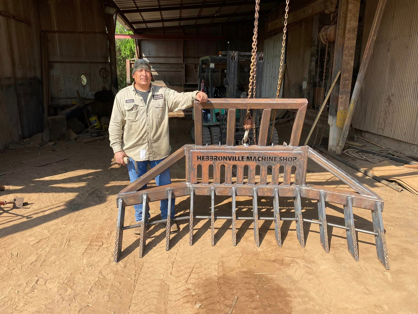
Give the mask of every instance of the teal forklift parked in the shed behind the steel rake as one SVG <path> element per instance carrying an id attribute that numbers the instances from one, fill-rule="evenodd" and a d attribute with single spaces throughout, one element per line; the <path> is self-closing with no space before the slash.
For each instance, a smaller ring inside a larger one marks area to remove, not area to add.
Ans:
<path id="1" fill-rule="evenodd" d="M 206 56 L 199 59 L 198 80 L 199 90 L 205 92 L 209 98 L 247 98 L 250 80 L 251 52 L 219 51 L 217 56 Z M 255 98 L 261 97 L 263 84 L 264 52 L 257 52 L 257 71 Z M 255 133 L 260 129 L 262 110 L 252 113 L 255 119 Z M 194 118 L 194 112 L 193 112 Z M 235 125 L 235 144 L 241 144 L 244 138 L 245 110 L 237 110 Z M 279 139 L 274 128 L 275 120 L 270 121 L 270 131 L 273 128 L 272 143 L 278 145 Z M 203 144 L 226 144 L 227 137 L 227 109 L 203 110 Z M 194 142 L 194 125 L 190 129 Z M 251 131 L 248 144 L 254 144 Z"/>

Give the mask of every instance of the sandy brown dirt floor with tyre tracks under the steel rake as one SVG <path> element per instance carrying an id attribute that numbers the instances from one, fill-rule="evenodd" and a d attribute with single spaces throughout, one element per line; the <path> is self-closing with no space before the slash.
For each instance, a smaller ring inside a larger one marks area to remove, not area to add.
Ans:
<path id="1" fill-rule="evenodd" d="M 173 151 L 191 143 L 191 123 L 171 118 Z M 142 259 L 138 237 L 127 230 L 122 258 L 113 263 L 115 196 L 128 183 L 126 169 L 110 166 L 107 140 L 55 145 L 53 153 L 68 159 L 43 167 L 21 163 L 49 154 L 48 149 L 0 154 L 0 172 L 15 165 L 14 173 L 0 176 L 6 186 L 0 199 L 22 196 L 27 202 L 23 208 L 0 208 L 0 313 L 228 313 L 236 296 L 233 314 L 418 312 L 418 197 L 409 192 L 398 193 L 333 160 L 385 200 L 390 270 L 377 260 L 372 235 L 358 234 L 360 260 L 355 262 L 344 230 L 329 227 L 327 254 L 318 225 L 304 223 L 302 248 L 290 221 L 283 222 L 281 248 L 272 221 L 260 223 L 260 247 L 250 221 L 237 222 L 237 247 L 230 221 L 215 222 L 214 247 L 209 221 L 196 225 L 193 246 L 181 221 L 168 252 L 165 229 L 152 226 Z M 171 167 L 171 176 L 184 180 L 184 160 Z M 307 181 L 347 188 L 312 162 Z M 258 201 L 260 216 L 272 216 L 272 199 Z M 209 213 L 209 197 L 196 196 L 195 203 L 197 214 Z M 230 199 L 216 197 L 215 204 L 216 214 L 230 214 Z M 316 201 L 302 199 L 302 205 L 305 218 L 318 219 Z M 237 215 L 251 216 L 251 206 L 250 198 L 237 197 Z M 159 219 L 159 204 L 150 208 L 152 218 Z M 293 200 L 280 199 L 280 208 L 281 216 L 294 217 Z M 188 197 L 176 199 L 176 212 L 188 214 Z M 327 204 L 329 222 L 344 224 L 342 217 L 342 206 Z M 358 228 L 372 229 L 370 211 L 354 208 L 354 220 Z M 125 224 L 133 222 L 133 208 L 127 208 Z"/>

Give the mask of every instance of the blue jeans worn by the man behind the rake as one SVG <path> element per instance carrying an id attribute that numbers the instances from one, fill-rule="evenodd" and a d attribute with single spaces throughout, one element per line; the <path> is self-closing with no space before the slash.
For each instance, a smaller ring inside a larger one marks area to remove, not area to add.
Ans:
<path id="1" fill-rule="evenodd" d="M 131 183 L 134 182 L 136 179 L 138 179 L 141 175 L 143 175 L 145 172 L 147 172 L 148 163 L 150 164 L 151 168 L 158 165 L 160 162 L 162 162 L 164 159 L 160 160 L 146 160 L 146 161 L 138 161 L 138 173 L 135 169 L 135 161 L 133 161 L 131 158 L 129 162 L 127 163 L 129 178 Z M 158 186 L 160 185 L 167 185 L 171 184 L 170 179 L 170 169 L 167 168 L 163 172 L 161 172 L 159 175 L 155 177 L 155 182 Z M 146 188 L 147 185 L 144 185 L 143 188 Z M 174 204 L 176 203 L 176 198 L 171 199 L 171 218 L 174 218 Z M 142 219 L 142 204 L 134 205 L 133 208 L 135 208 L 135 221 L 140 222 Z M 148 219 L 151 217 L 149 213 L 150 207 L 147 203 L 147 211 L 148 211 Z M 161 211 L 161 219 L 167 219 L 167 211 L 168 211 L 168 200 L 162 200 L 160 201 L 160 211 Z"/>

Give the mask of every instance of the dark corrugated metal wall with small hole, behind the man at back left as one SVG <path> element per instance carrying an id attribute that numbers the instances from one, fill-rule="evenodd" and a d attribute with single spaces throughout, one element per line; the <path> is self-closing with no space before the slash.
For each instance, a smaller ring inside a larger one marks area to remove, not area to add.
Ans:
<path id="1" fill-rule="evenodd" d="M 41 0 L 41 31 L 48 39 L 51 105 L 71 105 L 79 96 L 110 89 L 106 21 L 100 0 Z M 102 77 L 100 75 L 100 70 Z M 82 85 L 81 76 L 87 78 Z"/>

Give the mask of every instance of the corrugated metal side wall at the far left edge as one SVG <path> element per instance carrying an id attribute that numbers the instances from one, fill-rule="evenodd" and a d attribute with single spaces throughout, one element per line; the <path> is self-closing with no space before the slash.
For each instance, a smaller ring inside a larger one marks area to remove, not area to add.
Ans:
<path id="1" fill-rule="evenodd" d="M 43 129 L 39 17 L 32 1 L 1 1 L 0 149 Z"/>

